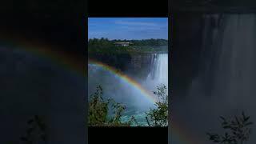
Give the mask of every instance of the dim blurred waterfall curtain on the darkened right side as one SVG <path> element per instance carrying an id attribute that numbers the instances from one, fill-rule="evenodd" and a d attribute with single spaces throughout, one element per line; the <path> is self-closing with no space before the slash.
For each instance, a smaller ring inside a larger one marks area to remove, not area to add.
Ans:
<path id="1" fill-rule="evenodd" d="M 206 90 L 211 91 L 210 95 L 223 98 L 230 106 L 242 104 L 244 97 L 256 94 L 255 20 L 254 14 L 206 18 L 206 21 L 215 21 L 218 25 L 206 25 L 206 30 L 211 30 L 211 33 L 204 35 L 204 42 L 208 44 L 204 45 L 201 60 L 204 64 L 200 75 L 205 80 Z"/>

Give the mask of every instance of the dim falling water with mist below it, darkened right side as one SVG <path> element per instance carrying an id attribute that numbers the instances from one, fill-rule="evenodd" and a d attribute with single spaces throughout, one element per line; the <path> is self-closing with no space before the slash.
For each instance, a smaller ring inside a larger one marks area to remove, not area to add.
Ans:
<path id="1" fill-rule="evenodd" d="M 198 77 L 185 99 L 174 106 L 190 136 L 210 143 L 206 131 L 222 132 L 220 115 L 229 117 L 245 110 L 255 121 L 256 14 L 210 14 L 204 19 Z M 252 133 L 248 143 L 255 142 Z"/>

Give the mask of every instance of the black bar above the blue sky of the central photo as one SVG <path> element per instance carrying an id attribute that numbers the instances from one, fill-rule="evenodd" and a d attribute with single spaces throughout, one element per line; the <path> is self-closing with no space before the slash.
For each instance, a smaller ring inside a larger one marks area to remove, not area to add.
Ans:
<path id="1" fill-rule="evenodd" d="M 89 0 L 89 17 L 162 17 L 168 13 L 168 0 Z"/>

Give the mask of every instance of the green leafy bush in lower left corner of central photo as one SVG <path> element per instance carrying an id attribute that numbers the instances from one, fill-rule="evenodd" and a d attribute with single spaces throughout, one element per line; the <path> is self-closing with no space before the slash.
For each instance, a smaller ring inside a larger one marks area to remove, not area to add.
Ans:
<path id="1" fill-rule="evenodd" d="M 102 94 L 102 86 L 97 86 L 96 92 L 90 97 L 89 126 L 131 126 L 134 122 L 137 123 L 134 117 L 128 122 L 122 122 L 121 117 L 126 106 L 112 98 L 104 100 Z M 109 115 L 110 107 L 114 111 L 112 117 Z"/>

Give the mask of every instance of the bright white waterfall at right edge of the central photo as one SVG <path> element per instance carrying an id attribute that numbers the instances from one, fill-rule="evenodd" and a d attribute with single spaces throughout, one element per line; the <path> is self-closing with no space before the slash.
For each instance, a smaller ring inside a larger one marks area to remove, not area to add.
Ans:
<path id="1" fill-rule="evenodd" d="M 150 73 L 146 78 L 146 85 L 168 85 L 168 54 L 152 54 Z"/>

